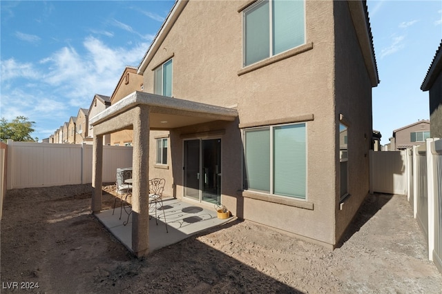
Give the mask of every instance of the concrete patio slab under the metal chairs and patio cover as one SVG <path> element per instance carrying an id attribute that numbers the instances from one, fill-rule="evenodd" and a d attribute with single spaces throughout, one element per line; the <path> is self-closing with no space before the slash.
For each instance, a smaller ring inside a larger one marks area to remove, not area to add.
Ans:
<path id="1" fill-rule="evenodd" d="M 163 210 L 158 209 L 157 218 L 155 218 L 155 207 L 149 209 L 149 215 L 152 216 L 149 219 L 149 252 L 170 246 L 207 228 L 220 226 L 235 219 L 235 217 L 218 219 L 216 211 L 180 199 L 164 199 L 163 202 L 166 223 L 164 223 Z M 113 209 L 104 210 L 96 213 L 95 217 L 132 252 L 132 215 L 128 217 L 128 211 L 127 208 L 122 210 L 121 219 L 119 218 L 120 208 L 115 208 L 115 213 Z M 124 225 L 127 220 L 128 224 Z M 169 233 L 166 231 L 166 224 Z"/>

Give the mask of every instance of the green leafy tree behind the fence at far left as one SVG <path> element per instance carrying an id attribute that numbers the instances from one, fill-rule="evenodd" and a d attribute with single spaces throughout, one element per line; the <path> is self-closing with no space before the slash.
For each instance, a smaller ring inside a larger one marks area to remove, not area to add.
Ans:
<path id="1" fill-rule="evenodd" d="M 0 140 L 6 141 L 12 139 L 14 141 L 36 142 L 30 134 L 34 132 L 32 126 L 35 121 L 28 121 L 28 117 L 16 117 L 8 122 L 4 117 L 0 119 Z"/>

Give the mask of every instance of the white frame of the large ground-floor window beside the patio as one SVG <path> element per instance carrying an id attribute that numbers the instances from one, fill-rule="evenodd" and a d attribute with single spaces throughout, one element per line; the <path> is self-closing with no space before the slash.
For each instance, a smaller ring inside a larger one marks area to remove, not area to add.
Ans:
<path id="1" fill-rule="evenodd" d="M 274 190 L 274 162 L 273 162 L 273 146 L 274 146 L 274 140 L 273 140 L 273 128 L 279 127 L 279 126 L 294 126 L 297 124 L 303 124 L 304 128 L 305 128 L 305 196 L 285 196 L 285 195 L 278 195 L 278 194 L 274 194 L 273 190 Z M 245 184 L 245 177 L 246 177 L 246 165 L 245 165 L 245 161 L 246 161 L 246 157 L 247 154 L 245 153 L 246 150 L 246 132 L 249 130 L 265 130 L 268 129 L 270 132 L 270 177 L 269 177 L 269 181 L 270 181 L 270 186 L 269 186 L 269 192 L 267 191 L 263 191 L 263 190 L 255 190 L 255 189 L 251 189 L 251 188 L 245 188 L 246 184 Z M 280 198 L 285 198 L 285 199 L 294 199 L 294 200 L 299 200 L 299 201 L 307 201 L 307 195 L 308 195 L 308 124 L 307 121 L 300 121 L 300 122 L 296 122 L 296 123 L 289 123 L 289 124 L 276 124 L 276 125 L 270 125 L 270 126 L 257 126 L 257 127 L 251 127 L 251 128 L 244 128 L 242 130 L 242 142 L 243 142 L 243 148 L 244 148 L 244 153 L 242 156 L 242 183 L 243 183 L 243 190 L 248 190 L 251 191 L 253 193 L 262 193 L 265 195 L 270 195 L 271 197 L 280 197 Z"/>

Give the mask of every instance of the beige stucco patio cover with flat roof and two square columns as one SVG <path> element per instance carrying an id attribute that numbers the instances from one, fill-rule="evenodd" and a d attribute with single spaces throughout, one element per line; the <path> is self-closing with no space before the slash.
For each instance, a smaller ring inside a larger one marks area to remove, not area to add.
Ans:
<path id="1" fill-rule="evenodd" d="M 91 209 L 102 211 L 103 137 L 133 130 L 133 190 L 131 251 L 138 257 L 149 251 L 149 141 L 150 130 L 172 130 L 210 121 L 235 121 L 237 110 L 189 100 L 135 91 L 90 119 L 93 138 L 93 196 Z M 172 167 L 174 168 L 174 167 Z M 176 184 L 176 183 L 174 183 Z"/>

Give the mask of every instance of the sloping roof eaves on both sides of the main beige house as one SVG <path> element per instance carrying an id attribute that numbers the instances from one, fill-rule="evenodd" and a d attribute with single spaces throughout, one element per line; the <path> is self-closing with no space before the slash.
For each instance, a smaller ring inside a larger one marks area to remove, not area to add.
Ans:
<path id="1" fill-rule="evenodd" d="M 148 63 L 152 60 L 155 52 L 160 48 L 162 41 L 166 38 L 167 34 L 175 24 L 175 21 L 180 16 L 181 12 L 186 7 L 189 0 L 177 0 L 173 4 L 173 7 L 166 19 L 162 23 L 157 35 L 153 38 L 151 46 L 149 46 L 146 54 L 144 55 L 140 65 L 138 66 L 137 73 L 142 75 L 146 70 Z M 367 1 L 347 1 L 354 27 L 356 29 L 356 35 L 362 49 L 365 66 L 369 73 L 370 80 L 372 81 L 372 87 L 376 87 L 379 84 L 378 66 L 376 63 L 376 56 L 374 55 L 373 35 L 372 28 L 370 27 Z"/>

